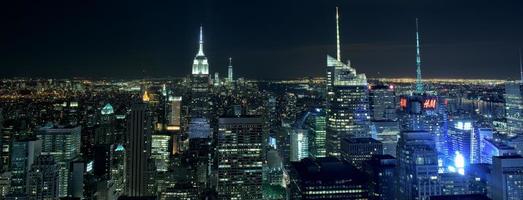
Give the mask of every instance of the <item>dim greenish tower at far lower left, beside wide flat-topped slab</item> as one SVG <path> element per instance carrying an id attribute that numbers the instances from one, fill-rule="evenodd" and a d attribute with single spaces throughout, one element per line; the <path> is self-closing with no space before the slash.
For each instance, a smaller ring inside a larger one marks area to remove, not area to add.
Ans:
<path id="1" fill-rule="evenodd" d="M 27 192 L 29 169 L 42 152 L 42 141 L 37 138 L 13 141 L 11 151 L 11 191 L 20 195 Z"/>

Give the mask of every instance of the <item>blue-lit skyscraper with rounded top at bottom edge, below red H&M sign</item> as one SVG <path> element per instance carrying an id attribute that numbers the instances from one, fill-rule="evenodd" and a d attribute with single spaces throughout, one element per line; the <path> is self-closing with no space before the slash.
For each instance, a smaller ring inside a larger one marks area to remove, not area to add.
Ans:
<path id="1" fill-rule="evenodd" d="M 438 154 L 433 136 L 425 131 L 402 132 L 397 151 L 397 197 L 422 200 L 439 195 Z"/>

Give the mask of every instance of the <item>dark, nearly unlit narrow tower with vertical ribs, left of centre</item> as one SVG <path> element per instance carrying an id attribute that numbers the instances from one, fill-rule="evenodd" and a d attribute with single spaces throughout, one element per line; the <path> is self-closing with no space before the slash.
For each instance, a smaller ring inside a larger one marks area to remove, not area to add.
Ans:
<path id="1" fill-rule="evenodd" d="M 146 196 L 147 160 L 151 153 L 151 119 L 147 105 L 133 105 L 127 122 L 126 195 Z"/>

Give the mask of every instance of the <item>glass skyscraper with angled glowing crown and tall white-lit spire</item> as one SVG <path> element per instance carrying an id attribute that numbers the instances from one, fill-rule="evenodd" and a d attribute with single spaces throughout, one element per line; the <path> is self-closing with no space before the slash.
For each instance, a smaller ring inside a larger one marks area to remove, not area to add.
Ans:
<path id="1" fill-rule="evenodd" d="M 368 137 L 369 102 L 365 74 L 358 74 L 350 62 L 341 62 L 336 8 L 337 59 L 327 55 L 327 154 L 340 155 L 340 141 L 346 136 Z"/>

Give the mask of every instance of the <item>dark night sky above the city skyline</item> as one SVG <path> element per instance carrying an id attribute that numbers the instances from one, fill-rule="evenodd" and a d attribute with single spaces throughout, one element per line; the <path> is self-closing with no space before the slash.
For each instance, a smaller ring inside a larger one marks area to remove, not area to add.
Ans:
<path id="1" fill-rule="evenodd" d="M 200 24 L 212 73 L 231 56 L 237 76 L 323 76 L 336 5 L 368 77 L 414 77 L 415 17 L 424 77 L 519 75 L 521 0 L 22 0 L 0 6 L 0 76 L 185 76 Z"/>

